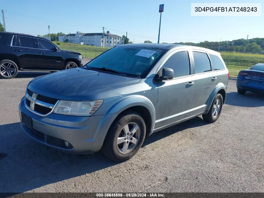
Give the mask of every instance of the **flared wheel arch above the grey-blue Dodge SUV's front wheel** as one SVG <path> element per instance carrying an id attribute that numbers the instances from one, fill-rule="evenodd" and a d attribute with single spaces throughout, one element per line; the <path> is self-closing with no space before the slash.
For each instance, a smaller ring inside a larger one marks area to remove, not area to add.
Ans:
<path id="1" fill-rule="evenodd" d="M 152 102 L 142 95 L 130 95 L 125 98 L 118 100 L 114 103 L 106 112 L 106 114 L 120 114 L 122 111 L 133 107 L 133 106 L 143 106 L 146 107 L 151 115 L 151 132 L 154 129 L 156 111 Z"/>

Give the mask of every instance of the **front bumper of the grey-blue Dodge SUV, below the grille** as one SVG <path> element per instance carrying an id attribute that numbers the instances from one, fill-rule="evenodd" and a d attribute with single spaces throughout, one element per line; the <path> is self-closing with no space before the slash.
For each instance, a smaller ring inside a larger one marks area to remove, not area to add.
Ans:
<path id="1" fill-rule="evenodd" d="M 22 122 L 25 115 L 31 118 L 32 128 Z M 117 115 L 78 117 L 51 113 L 42 117 L 26 109 L 23 98 L 19 104 L 19 117 L 22 130 L 34 140 L 68 153 L 88 154 L 101 149 Z M 69 143 L 68 147 L 64 141 Z"/>

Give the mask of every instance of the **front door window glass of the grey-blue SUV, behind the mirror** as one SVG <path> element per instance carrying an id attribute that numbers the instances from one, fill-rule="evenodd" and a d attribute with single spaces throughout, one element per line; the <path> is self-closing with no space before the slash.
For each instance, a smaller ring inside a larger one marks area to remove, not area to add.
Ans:
<path id="1" fill-rule="evenodd" d="M 162 67 L 173 69 L 174 78 L 190 75 L 190 60 L 187 51 L 174 53 Z"/>

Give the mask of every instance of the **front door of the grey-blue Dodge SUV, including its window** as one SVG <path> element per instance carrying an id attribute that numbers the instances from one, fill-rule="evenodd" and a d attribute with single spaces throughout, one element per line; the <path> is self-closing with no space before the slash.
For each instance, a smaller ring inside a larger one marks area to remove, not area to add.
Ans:
<path id="1" fill-rule="evenodd" d="M 162 67 L 173 69 L 174 78 L 157 83 L 155 129 L 189 117 L 194 94 L 195 77 L 189 52 L 172 52 L 166 59 Z"/>

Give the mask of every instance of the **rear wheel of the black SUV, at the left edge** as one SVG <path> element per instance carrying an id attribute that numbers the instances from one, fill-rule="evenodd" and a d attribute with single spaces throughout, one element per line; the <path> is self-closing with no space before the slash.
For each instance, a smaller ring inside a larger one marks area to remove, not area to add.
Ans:
<path id="1" fill-rule="evenodd" d="M 11 65 L 9 63 L 11 63 Z M 7 69 L 6 72 L 4 72 L 5 69 Z M 4 78 L 4 79 L 12 79 L 12 78 L 16 77 L 17 72 L 18 72 L 18 67 L 17 67 L 17 64 L 14 61 L 7 60 L 7 59 L 0 61 L 0 76 L 2 78 Z"/>

